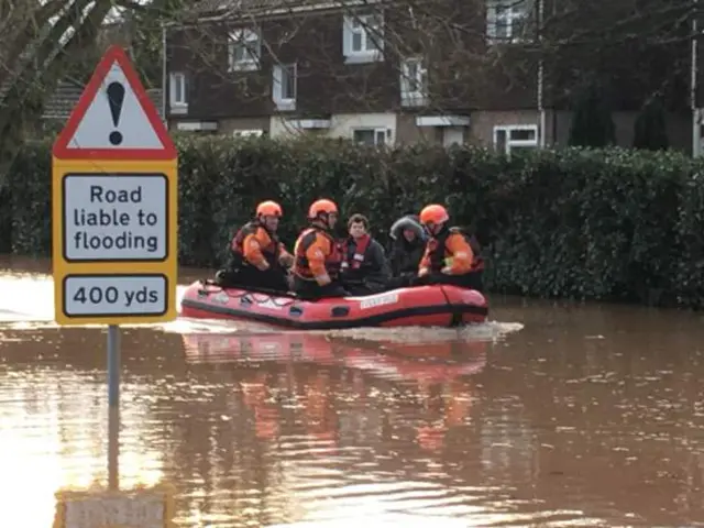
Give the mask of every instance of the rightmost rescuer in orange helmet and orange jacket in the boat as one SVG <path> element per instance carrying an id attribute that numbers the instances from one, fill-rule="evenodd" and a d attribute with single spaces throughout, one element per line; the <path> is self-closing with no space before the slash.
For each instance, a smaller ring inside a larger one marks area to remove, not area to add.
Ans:
<path id="1" fill-rule="evenodd" d="M 420 211 L 420 223 L 430 239 L 418 265 L 416 284 L 451 284 L 482 292 L 484 262 L 475 252 L 476 239 L 460 228 L 449 227 L 449 221 L 448 210 L 438 204 Z"/>

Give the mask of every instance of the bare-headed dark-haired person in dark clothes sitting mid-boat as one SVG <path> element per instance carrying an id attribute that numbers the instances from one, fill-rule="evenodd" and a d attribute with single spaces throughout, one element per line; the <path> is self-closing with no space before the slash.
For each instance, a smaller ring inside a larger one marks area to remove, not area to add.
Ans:
<path id="1" fill-rule="evenodd" d="M 370 233 L 370 221 L 363 215 L 352 215 L 348 221 L 349 237 L 342 241 L 342 284 L 352 295 L 384 292 L 392 273 L 384 246 Z"/>

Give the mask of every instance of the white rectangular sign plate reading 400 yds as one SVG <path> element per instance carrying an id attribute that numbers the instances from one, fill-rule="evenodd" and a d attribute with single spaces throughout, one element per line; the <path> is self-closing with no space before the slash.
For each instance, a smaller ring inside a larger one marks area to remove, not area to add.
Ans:
<path id="1" fill-rule="evenodd" d="M 164 275 L 68 275 L 64 314 L 80 316 L 162 316 L 168 307 Z"/>

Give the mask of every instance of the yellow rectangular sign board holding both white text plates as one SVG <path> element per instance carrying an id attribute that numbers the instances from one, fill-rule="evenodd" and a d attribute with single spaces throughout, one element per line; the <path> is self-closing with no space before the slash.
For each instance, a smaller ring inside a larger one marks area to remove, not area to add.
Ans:
<path id="1" fill-rule="evenodd" d="M 177 317 L 177 161 L 53 160 L 55 319 Z"/>

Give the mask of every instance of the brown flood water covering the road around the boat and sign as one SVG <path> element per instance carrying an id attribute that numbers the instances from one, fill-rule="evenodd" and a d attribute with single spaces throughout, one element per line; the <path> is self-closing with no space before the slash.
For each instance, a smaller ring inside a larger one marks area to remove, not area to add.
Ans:
<path id="1" fill-rule="evenodd" d="M 2 527 L 107 481 L 105 329 L 51 322 L 46 270 L 0 270 Z M 123 328 L 121 486 L 172 483 L 189 528 L 703 526 L 702 317 L 490 299 L 464 330 Z"/>

